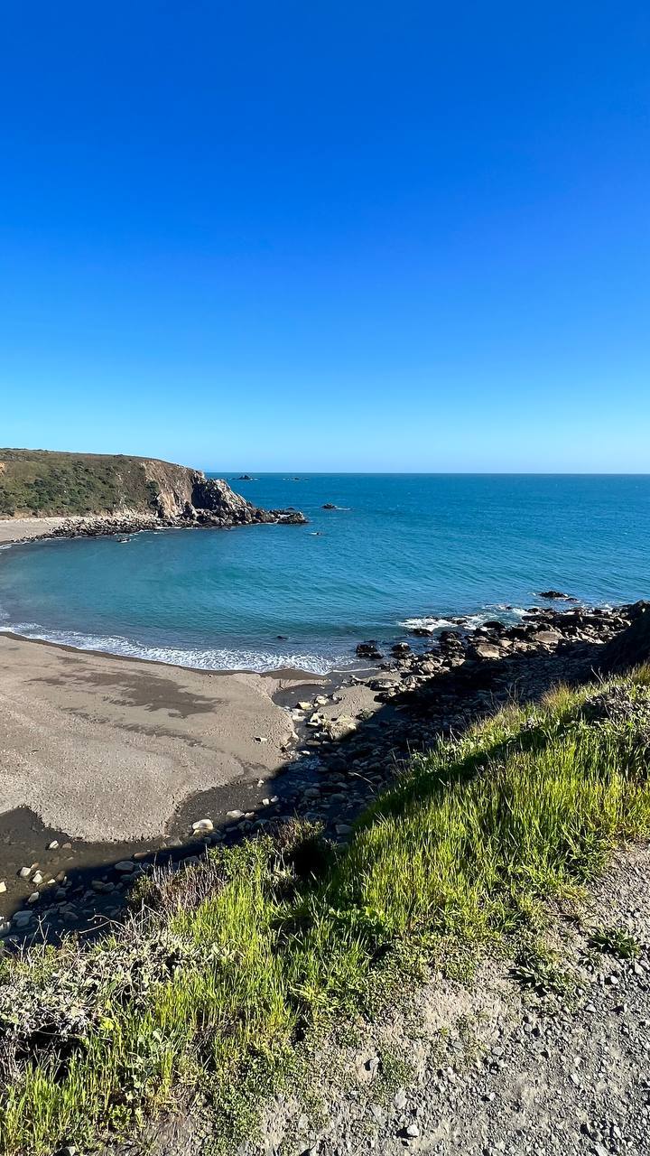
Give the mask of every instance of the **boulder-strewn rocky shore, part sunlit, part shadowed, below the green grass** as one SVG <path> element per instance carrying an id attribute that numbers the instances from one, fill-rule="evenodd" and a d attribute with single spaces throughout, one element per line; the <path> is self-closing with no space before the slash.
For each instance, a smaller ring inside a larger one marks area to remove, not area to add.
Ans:
<path id="1" fill-rule="evenodd" d="M 5 944 L 101 929 L 106 920 L 119 920 L 142 874 L 165 865 L 182 869 L 213 845 L 273 830 L 294 817 L 346 840 L 359 812 L 414 754 L 508 702 L 539 698 L 561 682 L 598 677 L 611 646 L 620 651 L 623 631 L 645 625 L 649 608 L 648 602 L 592 609 L 534 606 L 515 625 L 494 620 L 471 628 L 458 618 L 455 629 L 441 631 L 420 651 L 400 639 L 383 657 L 376 644 L 360 644 L 371 665 L 363 676 L 330 684 L 315 680 L 318 692 L 311 695 L 296 683 L 276 696 L 290 716 L 295 740 L 283 768 L 260 779 L 257 793 L 251 784 L 234 783 L 224 812 L 223 793 L 204 791 L 182 807 L 175 835 L 164 845 L 139 846 L 128 858 L 106 860 L 93 870 L 75 870 L 71 843 L 62 847 L 69 869 L 57 861 L 59 849 L 52 843 L 58 840 L 44 846 L 40 862 L 24 864 L 24 905 L 0 924 Z M 258 741 L 267 740 L 260 734 Z M 53 861 L 45 867 L 47 859 Z"/>

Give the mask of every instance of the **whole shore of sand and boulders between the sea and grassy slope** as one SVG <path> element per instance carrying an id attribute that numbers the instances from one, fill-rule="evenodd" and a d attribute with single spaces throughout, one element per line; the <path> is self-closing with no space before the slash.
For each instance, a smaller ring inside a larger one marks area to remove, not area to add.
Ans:
<path id="1" fill-rule="evenodd" d="M 30 528 L 37 538 L 42 524 Z M 36 911 L 65 929 L 62 879 L 82 896 L 73 925 L 118 918 L 116 860 L 192 860 L 202 818 L 208 842 L 294 814 L 345 838 L 407 755 L 488 704 L 589 677 L 599 646 L 637 613 L 562 605 L 517 624 L 452 617 L 452 629 L 413 631 L 413 646 L 383 653 L 360 644 L 357 667 L 328 674 L 177 666 L 0 632 L 0 934 L 13 927 L 2 914 L 35 894 Z"/>

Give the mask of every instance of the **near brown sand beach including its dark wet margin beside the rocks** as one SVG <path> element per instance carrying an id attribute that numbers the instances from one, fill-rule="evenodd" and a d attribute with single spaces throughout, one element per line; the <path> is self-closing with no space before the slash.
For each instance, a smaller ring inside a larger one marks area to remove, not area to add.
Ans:
<path id="1" fill-rule="evenodd" d="M 259 807 L 296 747 L 272 696 L 317 689 L 312 675 L 189 670 L 0 635 L 0 916 L 34 890 L 22 867 L 90 877 L 191 842 L 206 815 Z"/>

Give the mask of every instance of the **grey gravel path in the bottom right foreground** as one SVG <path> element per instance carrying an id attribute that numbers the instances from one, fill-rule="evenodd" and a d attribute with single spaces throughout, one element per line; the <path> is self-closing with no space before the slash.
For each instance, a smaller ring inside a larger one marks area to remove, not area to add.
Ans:
<path id="1" fill-rule="evenodd" d="M 264 1142 L 239 1151 L 650 1153 L 649 868 L 648 850 L 621 854 L 586 904 L 557 910 L 549 941 L 577 984 L 570 994 L 523 990 L 507 961 L 481 966 L 470 988 L 434 980 L 361 1047 L 322 1057 L 338 1076 L 313 1092 L 319 1127 L 304 1105 L 276 1099 Z M 612 925 L 638 958 L 590 947 L 593 928 Z M 201 1147 L 165 1148 L 178 1150 Z"/>

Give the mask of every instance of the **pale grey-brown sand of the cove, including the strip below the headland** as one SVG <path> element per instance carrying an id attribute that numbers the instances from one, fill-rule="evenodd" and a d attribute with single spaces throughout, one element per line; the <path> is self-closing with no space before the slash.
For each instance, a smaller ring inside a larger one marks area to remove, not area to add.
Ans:
<path id="1" fill-rule="evenodd" d="M 0 521 L 0 542 L 61 520 Z M 295 732 L 272 696 L 306 681 L 318 680 L 191 670 L 0 635 L 0 825 L 29 807 L 73 838 L 161 836 L 192 794 L 287 761 Z"/>

